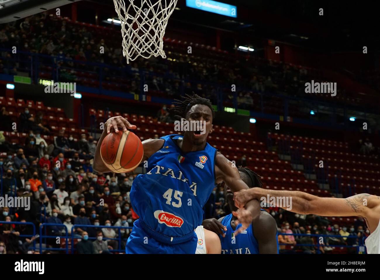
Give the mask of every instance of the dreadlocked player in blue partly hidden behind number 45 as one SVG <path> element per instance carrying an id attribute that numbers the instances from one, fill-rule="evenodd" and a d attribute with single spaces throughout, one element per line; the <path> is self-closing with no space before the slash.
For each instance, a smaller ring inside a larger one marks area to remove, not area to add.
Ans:
<path id="1" fill-rule="evenodd" d="M 241 179 L 250 188 L 261 187 L 260 176 L 249 168 L 239 168 Z M 234 194 L 230 187 L 222 182 L 224 196 L 232 211 L 220 219 L 204 220 L 204 229 L 219 234 L 222 244 L 222 254 L 278 254 L 277 225 L 275 219 L 267 211 L 261 209 L 260 215 L 253 219 L 252 224 L 235 236 L 234 232 L 241 228 L 236 216 Z M 238 224 L 236 226 L 236 224 Z M 226 233 L 224 233 L 225 231 Z"/>

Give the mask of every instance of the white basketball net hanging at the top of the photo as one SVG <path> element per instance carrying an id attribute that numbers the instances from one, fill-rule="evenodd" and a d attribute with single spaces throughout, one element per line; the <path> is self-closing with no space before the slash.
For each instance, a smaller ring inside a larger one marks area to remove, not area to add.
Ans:
<path id="1" fill-rule="evenodd" d="M 123 56 L 127 63 L 138 56 L 166 58 L 163 37 L 177 0 L 125 0 L 127 7 L 124 0 L 113 1 L 120 19 Z"/>

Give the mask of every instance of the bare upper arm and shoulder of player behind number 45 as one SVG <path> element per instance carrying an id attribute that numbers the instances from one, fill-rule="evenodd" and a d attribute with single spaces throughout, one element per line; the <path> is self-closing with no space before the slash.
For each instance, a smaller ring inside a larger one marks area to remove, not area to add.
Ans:
<path id="1" fill-rule="evenodd" d="M 277 254 L 277 224 L 272 215 L 266 211 L 260 211 L 260 215 L 252 222 L 252 228 L 259 246 L 259 253 Z"/>

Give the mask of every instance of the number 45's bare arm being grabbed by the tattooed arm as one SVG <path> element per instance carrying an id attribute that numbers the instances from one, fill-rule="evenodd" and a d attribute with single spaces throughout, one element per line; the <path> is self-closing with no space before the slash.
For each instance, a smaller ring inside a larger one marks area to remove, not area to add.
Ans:
<path id="1" fill-rule="evenodd" d="M 230 188 L 233 192 L 249 189 L 247 184 L 241 179 L 236 166 L 219 152 L 215 157 L 215 177 L 217 184 L 225 182 L 228 186 L 231 186 Z M 252 199 L 233 214 L 237 217 L 243 228 L 247 228 L 259 213 L 260 203 L 257 200 Z"/>

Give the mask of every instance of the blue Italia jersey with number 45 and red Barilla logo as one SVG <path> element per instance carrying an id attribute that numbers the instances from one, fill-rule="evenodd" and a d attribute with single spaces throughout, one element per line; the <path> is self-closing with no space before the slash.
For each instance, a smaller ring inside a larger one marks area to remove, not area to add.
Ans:
<path id="1" fill-rule="evenodd" d="M 163 136 L 160 150 L 149 157 L 146 174 L 133 181 L 130 199 L 133 210 L 152 230 L 169 237 L 190 234 L 202 224 L 203 206 L 215 187 L 217 150 L 184 153 L 175 139 Z"/>

